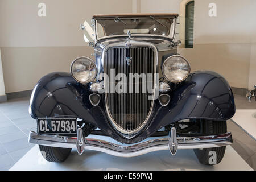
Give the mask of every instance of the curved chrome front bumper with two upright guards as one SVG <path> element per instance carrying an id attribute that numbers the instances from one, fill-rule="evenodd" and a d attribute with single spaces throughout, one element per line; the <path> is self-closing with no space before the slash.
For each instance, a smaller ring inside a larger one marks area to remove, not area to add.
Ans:
<path id="1" fill-rule="evenodd" d="M 232 144 L 233 140 L 230 132 L 199 137 L 176 137 L 176 130 L 172 128 L 168 138 L 157 138 L 130 145 L 84 138 L 81 129 L 77 131 L 77 138 L 38 134 L 30 131 L 28 142 L 51 147 L 76 148 L 79 154 L 82 154 L 84 150 L 94 150 L 119 157 L 133 157 L 159 150 L 170 150 L 171 154 L 175 155 L 177 149 L 221 147 Z"/>

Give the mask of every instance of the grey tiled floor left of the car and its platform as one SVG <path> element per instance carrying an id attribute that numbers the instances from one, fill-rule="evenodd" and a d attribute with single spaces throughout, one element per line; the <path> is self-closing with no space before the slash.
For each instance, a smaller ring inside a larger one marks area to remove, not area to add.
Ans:
<path id="1" fill-rule="evenodd" d="M 0 104 L 0 170 L 8 170 L 33 144 L 28 133 L 36 129 L 36 122 L 28 114 L 29 98 L 10 100 Z"/>

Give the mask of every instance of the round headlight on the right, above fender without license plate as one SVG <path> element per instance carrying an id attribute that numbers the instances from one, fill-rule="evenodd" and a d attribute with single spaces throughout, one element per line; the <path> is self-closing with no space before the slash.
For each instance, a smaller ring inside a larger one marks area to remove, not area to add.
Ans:
<path id="1" fill-rule="evenodd" d="M 166 80 L 177 83 L 188 77 L 190 65 L 184 57 L 174 55 L 164 61 L 162 72 Z"/>

